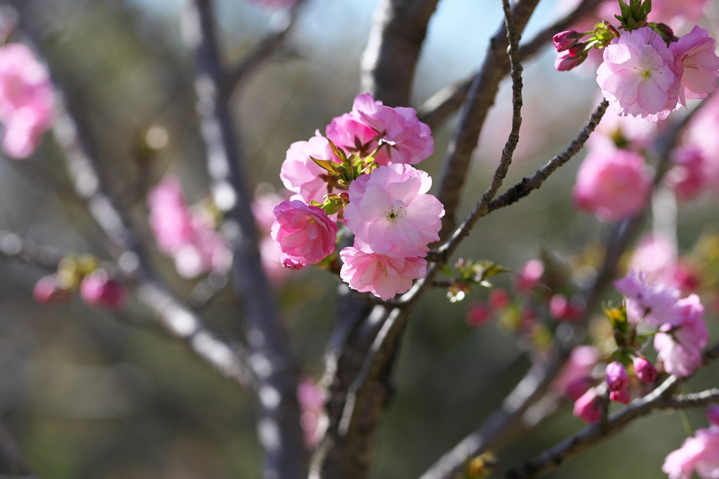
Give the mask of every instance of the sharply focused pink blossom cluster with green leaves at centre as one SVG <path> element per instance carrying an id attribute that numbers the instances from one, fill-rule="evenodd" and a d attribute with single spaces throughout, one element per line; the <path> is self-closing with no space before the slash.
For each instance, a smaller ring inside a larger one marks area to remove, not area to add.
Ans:
<path id="1" fill-rule="evenodd" d="M 415 169 L 434 151 L 429 126 L 413 108 L 390 108 L 369 94 L 334 118 L 326 136 L 290 145 L 280 171 L 294 195 L 275 208 L 272 238 L 283 266 L 301 269 L 334 253 L 339 225 L 354 234 L 343 248 L 342 279 L 382 299 L 407 292 L 426 273 L 444 209 Z M 338 225 L 339 224 L 339 225 Z"/>

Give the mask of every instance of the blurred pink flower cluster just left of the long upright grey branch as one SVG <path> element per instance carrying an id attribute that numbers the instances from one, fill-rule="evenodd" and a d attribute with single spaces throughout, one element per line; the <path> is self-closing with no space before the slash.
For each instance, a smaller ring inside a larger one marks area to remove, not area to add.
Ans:
<path id="1" fill-rule="evenodd" d="M 194 278 L 229 269 L 232 253 L 216 231 L 215 215 L 206 205 L 188 207 L 179 180 L 165 177 L 147 195 L 147 205 L 157 245 L 175 259 L 180 276 Z"/>

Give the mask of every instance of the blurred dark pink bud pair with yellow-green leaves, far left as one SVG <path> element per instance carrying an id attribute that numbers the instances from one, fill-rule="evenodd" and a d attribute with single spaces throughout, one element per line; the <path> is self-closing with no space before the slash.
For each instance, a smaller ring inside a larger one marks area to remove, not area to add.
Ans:
<path id="1" fill-rule="evenodd" d="M 35 284 L 32 296 L 40 304 L 60 304 L 68 302 L 78 289 L 84 302 L 109 310 L 122 307 L 127 295 L 122 283 L 101 267 L 95 256 L 82 255 L 63 258 L 58 271 Z"/>

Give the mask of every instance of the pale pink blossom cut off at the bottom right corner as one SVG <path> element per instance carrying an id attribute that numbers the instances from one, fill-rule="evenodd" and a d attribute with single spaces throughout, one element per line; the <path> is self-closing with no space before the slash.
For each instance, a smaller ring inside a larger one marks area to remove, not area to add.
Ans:
<path id="1" fill-rule="evenodd" d="M 669 452 L 661 470 L 669 479 L 691 479 L 695 472 L 703 479 L 719 478 L 719 426 L 697 429 L 682 447 Z"/>

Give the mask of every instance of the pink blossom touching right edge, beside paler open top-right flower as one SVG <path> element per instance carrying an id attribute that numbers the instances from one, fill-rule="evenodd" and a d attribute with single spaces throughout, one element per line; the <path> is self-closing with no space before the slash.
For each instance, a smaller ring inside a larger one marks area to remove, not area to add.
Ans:
<path id="1" fill-rule="evenodd" d="M 691 32 L 669 45 L 674 55 L 674 73 L 681 78 L 679 103 L 686 106 L 687 98 L 707 98 L 717 89 L 719 57 L 714 52 L 714 39 L 702 28 Z"/>

